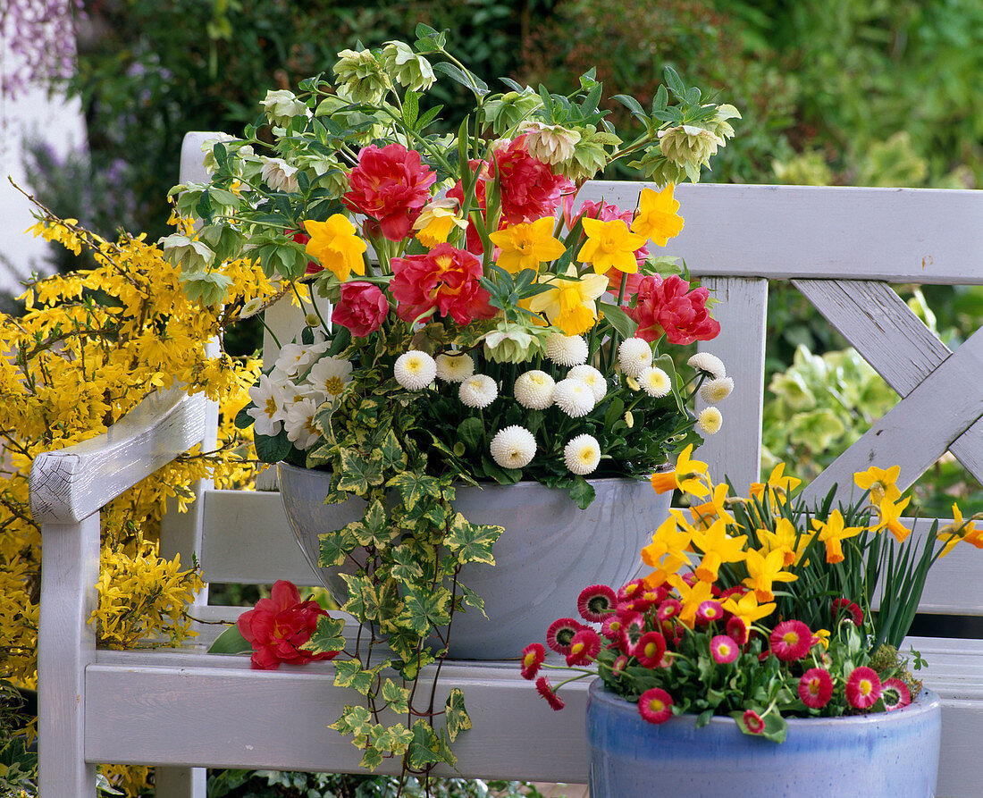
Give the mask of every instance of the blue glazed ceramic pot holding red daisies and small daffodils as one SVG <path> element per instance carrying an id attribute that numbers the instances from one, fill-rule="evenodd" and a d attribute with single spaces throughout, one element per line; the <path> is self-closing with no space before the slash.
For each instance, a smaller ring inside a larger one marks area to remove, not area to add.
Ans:
<path id="1" fill-rule="evenodd" d="M 587 704 L 591 798 L 930 798 L 941 726 L 939 696 L 923 690 L 892 713 L 788 718 L 777 744 L 730 717 L 653 725 L 598 679 Z"/>

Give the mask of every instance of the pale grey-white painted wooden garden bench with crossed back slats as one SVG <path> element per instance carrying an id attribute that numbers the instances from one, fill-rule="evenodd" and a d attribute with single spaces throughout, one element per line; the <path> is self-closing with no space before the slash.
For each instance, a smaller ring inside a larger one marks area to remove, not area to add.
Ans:
<path id="1" fill-rule="evenodd" d="M 204 135 L 185 142 L 182 178 L 201 173 Z M 596 184 L 632 206 L 637 184 Z M 854 469 L 901 466 L 910 484 L 947 449 L 983 477 L 983 333 L 952 354 L 908 311 L 892 283 L 983 282 L 983 194 L 968 191 L 680 186 L 686 219 L 667 248 L 716 290 L 723 333 L 706 349 L 723 358 L 734 393 L 724 426 L 700 450 L 715 476 L 740 489 L 758 478 L 769 280 L 790 280 L 903 397 L 824 473 L 815 490 L 848 485 Z M 887 282 L 885 282 L 887 281 Z M 159 766 L 158 796 L 203 796 L 203 767 L 358 770 L 359 752 L 326 729 L 351 698 L 317 663 L 254 671 L 247 657 L 180 650 L 94 647 L 99 509 L 198 441 L 213 439 L 214 411 L 200 398 L 151 397 L 86 443 L 38 457 L 31 510 L 42 522 L 40 788 L 42 798 L 94 794 L 93 763 Z M 191 552 L 210 582 L 312 584 L 299 551 L 284 545 L 276 493 L 202 485 L 187 515 L 170 514 L 163 552 Z M 917 533 L 916 533 L 917 534 Z M 954 553 L 936 568 L 922 604 L 930 613 L 983 614 L 983 554 Z M 197 607 L 202 617 L 238 609 Z M 557 614 L 562 608 L 556 608 Z M 214 632 L 210 633 L 212 636 Z M 939 794 L 979 795 L 983 759 L 983 644 L 911 641 L 929 662 L 926 682 L 944 698 Z M 466 775 L 586 782 L 586 685 L 552 713 L 514 662 L 460 662 L 442 684 L 464 687 L 474 728 L 458 740 Z M 383 769 L 384 770 L 384 769 Z M 446 772 L 446 770 L 444 770 Z"/>

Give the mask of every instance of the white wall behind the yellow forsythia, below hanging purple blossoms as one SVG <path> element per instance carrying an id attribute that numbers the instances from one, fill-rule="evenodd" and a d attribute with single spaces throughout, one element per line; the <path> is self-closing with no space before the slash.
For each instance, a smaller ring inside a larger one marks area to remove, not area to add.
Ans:
<path id="1" fill-rule="evenodd" d="M 10 64 L 11 54 L 2 56 Z M 26 234 L 34 220 L 30 204 L 8 181 L 12 177 L 25 190 L 21 142 L 26 135 L 48 142 L 60 155 L 82 146 L 86 126 L 78 101 L 49 98 L 42 89 L 31 88 L 15 100 L 0 98 L 0 291 L 15 291 L 17 283 L 29 275 L 31 268 L 43 267 L 48 246 Z"/>

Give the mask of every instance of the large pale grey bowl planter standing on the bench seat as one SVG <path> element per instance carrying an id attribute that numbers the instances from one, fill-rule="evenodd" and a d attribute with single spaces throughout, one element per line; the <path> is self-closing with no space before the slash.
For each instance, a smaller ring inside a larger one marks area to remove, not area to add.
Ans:
<path id="1" fill-rule="evenodd" d="M 365 502 L 324 504 L 330 475 L 278 466 L 280 495 L 297 541 L 317 568 L 318 536 L 362 518 Z M 467 565 L 461 582 L 485 599 L 488 619 L 475 609 L 455 614 L 449 655 L 459 659 L 517 658 L 543 640 L 557 613 L 574 614 L 588 585 L 617 590 L 639 571 L 639 552 L 668 514 L 670 493 L 646 481 L 591 481 L 597 497 L 581 510 L 563 490 L 539 483 L 457 490 L 454 507 L 475 524 L 505 532 L 494 544 L 494 567 Z M 319 572 L 334 599 L 347 591 L 340 568 Z M 566 608 L 566 609 L 564 609 Z"/>

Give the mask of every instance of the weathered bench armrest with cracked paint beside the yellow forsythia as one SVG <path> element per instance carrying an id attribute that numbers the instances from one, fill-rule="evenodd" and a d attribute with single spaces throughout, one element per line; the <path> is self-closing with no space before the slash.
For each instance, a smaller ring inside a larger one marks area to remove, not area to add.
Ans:
<path id="1" fill-rule="evenodd" d="M 105 432 L 45 452 L 30 469 L 30 513 L 74 524 L 202 440 L 208 401 L 179 388 L 148 395 Z"/>

